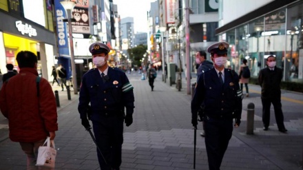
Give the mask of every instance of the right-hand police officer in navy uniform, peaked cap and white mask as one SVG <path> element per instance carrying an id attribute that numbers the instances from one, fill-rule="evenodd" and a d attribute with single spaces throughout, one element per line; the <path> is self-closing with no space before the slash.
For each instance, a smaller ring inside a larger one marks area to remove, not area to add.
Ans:
<path id="1" fill-rule="evenodd" d="M 219 42 L 207 48 L 214 67 L 200 74 L 191 100 L 191 123 L 196 128 L 197 112 L 204 103 L 205 145 L 210 170 L 219 170 L 235 127 L 240 125 L 242 92 L 238 74 L 224 67 L 229 43 Z"/>

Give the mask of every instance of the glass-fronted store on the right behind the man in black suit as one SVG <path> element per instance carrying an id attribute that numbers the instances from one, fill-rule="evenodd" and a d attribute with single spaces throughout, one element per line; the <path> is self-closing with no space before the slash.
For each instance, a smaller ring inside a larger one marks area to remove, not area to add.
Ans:
<path id="1" fill-rule="evenodd" d="M 283 81 L 303 81 L 303 1 L 273 1 L 216 30 L 227 41 L 229 67 L 238 71 L 247 59 L 252 76 L 276 56 L 284 70 Z M 260 15 L 262 14 L 262 15 Z M 258 15 L 258 16 L 256 16 Z"/>

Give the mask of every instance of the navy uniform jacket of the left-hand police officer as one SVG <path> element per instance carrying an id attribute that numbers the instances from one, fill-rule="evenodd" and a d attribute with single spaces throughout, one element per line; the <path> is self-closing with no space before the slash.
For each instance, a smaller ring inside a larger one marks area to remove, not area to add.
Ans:
<path id="1" fill-rule="evenodd" d="M 122 70 L 108 67 L 109 79 L 103 83 L 98 69 L 92 69 L 83 75 L 78 110 L 81 118 L 87 116 L 87 106 L 92 109 L 91 120 L 98 121 L 101 116 L 123 116 L 134 111 L 134 92 L 132 85 Z"/>

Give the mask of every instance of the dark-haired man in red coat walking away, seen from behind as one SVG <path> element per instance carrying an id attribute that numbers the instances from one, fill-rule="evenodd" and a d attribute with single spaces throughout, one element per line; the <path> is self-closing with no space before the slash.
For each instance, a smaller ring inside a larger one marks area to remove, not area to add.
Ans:
<path id="1" fill-rule="evenodd" d="M 39 146 L 47 136 L 54 140 L 58 130 L 56 100 L 45 78 L 36 83 L 39 76 L 34 53 L 19 52 L 17 62 L 20 74 L 3 84 L 0 109 L 8 118 L 10 140 L 19 142 L 27 155 L 27 169 L 38 169 L 35 164 Z"/>

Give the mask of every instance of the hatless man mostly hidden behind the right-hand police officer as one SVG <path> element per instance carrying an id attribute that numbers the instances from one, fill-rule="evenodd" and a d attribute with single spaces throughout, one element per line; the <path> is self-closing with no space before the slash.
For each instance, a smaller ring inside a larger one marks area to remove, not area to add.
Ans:
<path id="1" fill-rule="evenodd" d="M 197 77 L 204 73 L 208 72 L 213 68 L 213 63 L 211 61 L 207 61 L 207 55 L 205 51 L 196 52 L 196 64 L 198 65 L 197 69 Z M 201 105 L 200 109 L 198 110 L 198 114 L 200 115 L 200 120 L 203 122 L 203 112 L 204 112 L 204 103 Z M 204 131 L 204 123 L 202 123 L 203 126 L 203 132 L 200 133 L 200 136 L 205 137 L 205 131 Z"/>

